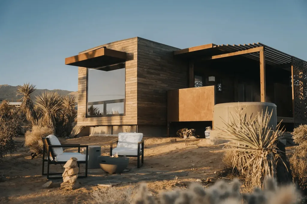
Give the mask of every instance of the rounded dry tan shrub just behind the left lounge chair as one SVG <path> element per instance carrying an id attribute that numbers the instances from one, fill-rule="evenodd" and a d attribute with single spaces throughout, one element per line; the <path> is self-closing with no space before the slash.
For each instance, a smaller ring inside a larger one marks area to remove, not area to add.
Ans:
<path id="1" fill-rule="evenodd" d="M 30 150 L 36 152 L 37 154 L 42 153 L 44 144 L 41 138 L 52 134 L 52 128 L 33 126 L 31 131 L 28 130 L 25 133 L 25 145 L 30 147 Z"/>

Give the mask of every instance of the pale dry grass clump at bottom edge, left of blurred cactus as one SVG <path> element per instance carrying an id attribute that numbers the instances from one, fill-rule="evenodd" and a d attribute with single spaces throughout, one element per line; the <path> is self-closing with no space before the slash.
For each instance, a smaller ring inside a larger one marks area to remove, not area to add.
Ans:
<path id="1" fill-rule="evenodd" d="M 135 194 L 134 191 L 134 187 L 131 186 L 125 189 L 111 187 L 107 189 L 97 189 L 91 193 L 91 197 L 94 199 L 95 203 L 130 204 Z"/>

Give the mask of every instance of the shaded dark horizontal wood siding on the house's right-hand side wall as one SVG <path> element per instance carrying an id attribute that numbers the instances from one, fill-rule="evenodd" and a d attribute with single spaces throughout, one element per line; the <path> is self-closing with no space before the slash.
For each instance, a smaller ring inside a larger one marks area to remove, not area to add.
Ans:
<path id="1" fill-rule="evenodd" d="M 188 87 L 188 62 L 174 59 L 175 47 L 138 38 L 137 112 L 140 125 L 165 125 L 167 91 Z"/>

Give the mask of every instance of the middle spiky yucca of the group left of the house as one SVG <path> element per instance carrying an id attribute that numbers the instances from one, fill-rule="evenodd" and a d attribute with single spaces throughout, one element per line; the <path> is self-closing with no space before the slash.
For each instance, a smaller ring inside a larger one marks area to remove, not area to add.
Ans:
<path id="1" fill-rule="evenodd" d="M 47 91 L 36 96 L 35 102 L 41 115 L 41 125 L 55 128 L 57 117 L 62 108 L 62 96 L 57 92 Z"/>

